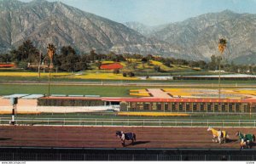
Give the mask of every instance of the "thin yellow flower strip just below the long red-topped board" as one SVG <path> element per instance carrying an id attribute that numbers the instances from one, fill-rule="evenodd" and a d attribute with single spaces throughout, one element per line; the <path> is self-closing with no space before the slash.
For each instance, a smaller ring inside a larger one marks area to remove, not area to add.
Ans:
<path id="1" fill-rule="evenodd" d="M 118 116 L 189 116 L 186 113 L 166 113 L 166 112 L 126 112 L 120 111 Z"/>

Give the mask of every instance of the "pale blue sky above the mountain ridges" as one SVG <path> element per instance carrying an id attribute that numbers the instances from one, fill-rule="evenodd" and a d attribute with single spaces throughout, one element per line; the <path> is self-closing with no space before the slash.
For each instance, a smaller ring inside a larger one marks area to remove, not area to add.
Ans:
<path id="1" fill-rule="evenodd" d="M 21 0 L 30 2 L 31 0 Z M 56 0 L 48 0 L 54 2 Z M 120 23 L 139 21 L 160 25 L 186 20 L 200 14 L 230 9 L 256 14 L 256 0 L 59 0 L 75 8 Z"/>

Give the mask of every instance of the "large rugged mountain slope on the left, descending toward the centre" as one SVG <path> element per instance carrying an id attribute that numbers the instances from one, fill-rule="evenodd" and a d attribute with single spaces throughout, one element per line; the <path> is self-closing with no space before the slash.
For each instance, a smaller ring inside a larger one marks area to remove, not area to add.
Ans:
<path id="1" fill-rule="evenodd" d="M 143 37 L 123 24 L 86 13 L 57 2 L 34 0 L 20 3 L 0 1 L 1 52 L 31 39 L 36 47 L 46 49 L 49 42 L 57 48 L 71 45 L 80 52 L 165 53 L 165 42 Z"/>

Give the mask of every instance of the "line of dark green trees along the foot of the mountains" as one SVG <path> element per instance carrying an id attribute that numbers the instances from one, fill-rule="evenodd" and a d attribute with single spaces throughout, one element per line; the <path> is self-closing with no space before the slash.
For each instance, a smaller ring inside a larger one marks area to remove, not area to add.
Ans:
<path id="1" fill-rule="evenodd" d="M 221 70 L 237 72 L 237 73 L 250 73 L 256 72 L 255 65 L 235 65 L 233 62 L 229 63 L 224 59 L 220 59 L 216 55 L 212 55 L 211 61 L 204 60 L 186 60 L 175 59 L 171 57 L 162 57 L 148 54 L 115 54 L 110 52 L 108 54 L 96 54 L 95 50 L 91 50 L 89 54 L 77 54 L 75 49 L 71 46 L 63 46 L 59 53 L 55 53 L 53 64 L 55 69 L 59 71 L 84 71 L 90 69 L 90 64 L 95 63 L 100 69 L 103 60 L 112 60 L 115 62 L 126 61 L 132 65 L 132 60 L 136 59 L 142 61 L 144 64 L 150 60 L 160 61 L 168 67 L 172 65 L 188 65 L 192 68 L 200 68 L 203 70 L 218 70 L 218 63 L 221 62 Z M 49 57 L 43 54 L 36 48 L 31 40 L 26 40 L 18 48 L 9 51 L 8 54 L 0 54 L 0 63 L 14 62 L 21 68 L 32 69 L 28 67 L 28 63 L 32 65 L 49 65 Z M 155 71 L 160 71 L 160 67 L 155 65 Z"/>

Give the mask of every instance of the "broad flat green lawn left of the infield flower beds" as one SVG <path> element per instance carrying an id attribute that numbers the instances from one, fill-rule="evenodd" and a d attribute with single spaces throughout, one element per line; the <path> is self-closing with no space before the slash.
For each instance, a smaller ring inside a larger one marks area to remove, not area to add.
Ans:
<path id="1" fill-rule="evenodd" d="M 130 89 L 153 88 L 153 87 L 125 87 L 125 86 L 74 86 L 74 85 L 51 85 L 50 94 L 72 94 L 72 95 L 100 95 L 102 97 L 129 96 Z M 154 87 L 155 88 L 155 87 Z M 48 85 L 26 85 L 26 84 L 0 84 L 0 95 L 14 93 L 24 94 L 48 94 Z"/>

